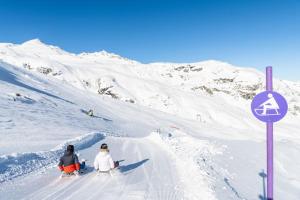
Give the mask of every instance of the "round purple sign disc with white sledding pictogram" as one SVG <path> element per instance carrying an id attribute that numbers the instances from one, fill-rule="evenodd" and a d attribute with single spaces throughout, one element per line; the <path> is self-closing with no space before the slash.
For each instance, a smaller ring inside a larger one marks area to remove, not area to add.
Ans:
<path id="1" fill-rule="evenodd" d="M 263 122 L 277 122 L 287 113 L 288 105 L 277 92 L 265 91 L 256 95 L 251 103 L 253 115 Z"/>

